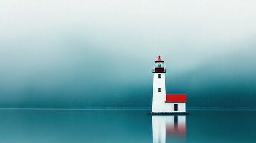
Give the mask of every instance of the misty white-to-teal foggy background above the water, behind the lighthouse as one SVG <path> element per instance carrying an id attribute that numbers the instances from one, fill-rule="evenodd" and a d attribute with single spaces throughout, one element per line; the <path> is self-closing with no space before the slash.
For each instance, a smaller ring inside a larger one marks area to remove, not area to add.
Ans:
<path id="1" fill-rule="evenodd" d="M 0 1 L 0 107 L 256 107 L 256 1 Z"/>

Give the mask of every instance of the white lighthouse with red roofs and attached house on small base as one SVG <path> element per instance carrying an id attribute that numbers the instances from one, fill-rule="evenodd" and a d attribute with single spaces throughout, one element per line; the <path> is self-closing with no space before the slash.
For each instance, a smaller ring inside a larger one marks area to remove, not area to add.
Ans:
<path id="1" fill-rule="evenodd" d="M 187 114 L 186 94 L 166 94 L 165 73 L 164 60 L 159 55 L 153 69 L 152 112 L 149 114 Z"/>

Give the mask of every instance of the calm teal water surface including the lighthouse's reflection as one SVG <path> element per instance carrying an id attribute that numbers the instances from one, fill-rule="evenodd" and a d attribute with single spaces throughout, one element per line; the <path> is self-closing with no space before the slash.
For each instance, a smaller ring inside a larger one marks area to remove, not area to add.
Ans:
<path id="1" fill-rule="evenodd" d="M 0 110 L 0 142 L 256 142 L 256 110 Z"/>

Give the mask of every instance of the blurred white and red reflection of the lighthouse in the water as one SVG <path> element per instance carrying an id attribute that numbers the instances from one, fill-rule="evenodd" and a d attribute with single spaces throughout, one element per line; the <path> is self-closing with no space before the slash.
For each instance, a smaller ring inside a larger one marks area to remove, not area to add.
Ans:
<path id="1" fill-rule="evenodd" d="M 186 142 L 186 116 L 152 116 L 153 142 Z"/>

